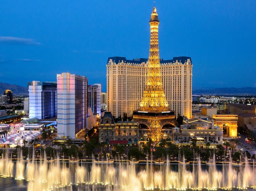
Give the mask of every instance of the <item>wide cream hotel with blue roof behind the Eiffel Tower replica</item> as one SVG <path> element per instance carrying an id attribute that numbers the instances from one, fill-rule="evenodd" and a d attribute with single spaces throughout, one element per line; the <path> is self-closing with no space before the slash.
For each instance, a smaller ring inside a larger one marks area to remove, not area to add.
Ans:
<path id="1" fill-rule="evenodd" d="M 145 87 L 148 59 L 127 60 L 109 57 L 107 62 L 107 110 L 113 116 L 132 116 L 139 108 Z M 169 108 L 178 115 L 191 118 L 192 114 L 192 62 L 180 56 L 171 60 L 160 59 L 163 89 Z"/>

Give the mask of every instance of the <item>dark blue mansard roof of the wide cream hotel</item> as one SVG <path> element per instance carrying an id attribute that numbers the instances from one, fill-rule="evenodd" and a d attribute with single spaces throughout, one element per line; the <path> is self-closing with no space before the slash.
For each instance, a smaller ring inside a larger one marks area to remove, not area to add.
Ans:
<path id="1" fill-rule="evenodd" d="M 148 61 L 148 58 L 134 58 L 132 60 L 127 60 L 126 57 L 114 56 L 114 57 L 108 57 L 108 62 L 110 59 L 112 59 L 113 62 L 115 62 L 115 63 L 122 62 L 122 60 L 124 61 L 124 63 L 136 63 L 136 64 L 141 64 L 143 62 L 146 63 Z M 177 57 L 173 57 L 173 59 L 169 59 L 169 60 L 160 59 L 160 64 L 174 63 L 174 62 L 176 62 L 176 60 L 178 60 L 178 62 L 181 62 L 182 64 L 184 64 L 185 62 L 187 62 L 187 59 L 190 59 L 190 61 L 191 61 L 191 57 L 187 57 L 187 56 L 177 56 Z M 192 61 L 191 61 L 191 63 L 192 63 Z"/>

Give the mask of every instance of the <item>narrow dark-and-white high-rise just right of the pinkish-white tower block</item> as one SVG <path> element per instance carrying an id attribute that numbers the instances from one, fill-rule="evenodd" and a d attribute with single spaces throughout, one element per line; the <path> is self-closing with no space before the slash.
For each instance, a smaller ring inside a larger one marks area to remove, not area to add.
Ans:
<path id="1" fill-rule="evenodd" d="M 88 108 L 92 109 L 93 115 L 100 115 L 101 84 L 88 85 Z"/>

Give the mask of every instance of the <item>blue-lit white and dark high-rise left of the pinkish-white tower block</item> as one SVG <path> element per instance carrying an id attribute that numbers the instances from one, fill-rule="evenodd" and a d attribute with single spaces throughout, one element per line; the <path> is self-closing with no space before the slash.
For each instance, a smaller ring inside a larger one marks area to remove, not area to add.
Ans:
<path id="1" fill-rule="evenodd" d="M 57 83 L 28 82 L 28 92 L 29 118 L 51 119 L 57 117 Z"/>

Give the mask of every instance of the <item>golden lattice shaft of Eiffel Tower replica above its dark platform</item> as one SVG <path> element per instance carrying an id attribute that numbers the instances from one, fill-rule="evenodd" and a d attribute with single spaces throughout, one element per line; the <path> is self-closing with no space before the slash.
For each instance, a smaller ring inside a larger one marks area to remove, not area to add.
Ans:
<path id="1" fill-rule="evenodd" d="M 155 6 L 149 21 L 150 24 L 150 48 L 148 59 L 148 73 L 146 87 L 143 91 L 143 98 L 140 102 L 141 110 L 150 111 L 164 111 L 168 109 L 165 93 L 163 90 L 161 71 L 160 71 L 160 58 L 159 58 L 159 45 L 158 45 L 158 25 L 159 19 Z"/>

